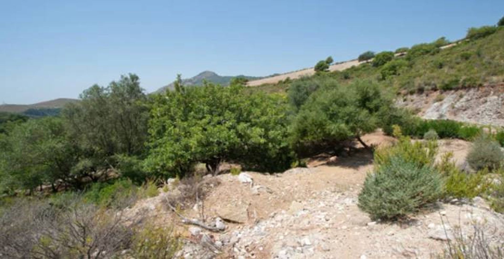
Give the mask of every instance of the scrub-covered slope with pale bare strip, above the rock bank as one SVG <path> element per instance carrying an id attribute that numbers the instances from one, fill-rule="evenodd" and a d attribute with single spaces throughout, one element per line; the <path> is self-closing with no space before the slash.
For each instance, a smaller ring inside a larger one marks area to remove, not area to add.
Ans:
<path id="1" fill-rule="evenodd" d="M 329 77 L 341 84 L 355 80 L 371 80 L 402 93 L 428 90 L 470 88 L 504 81 L 504 29 L 478 39 L 462 40 L 450 47 L 436 42 L 412 46 L 405 55 L 383 66 L 350 60 L 334 64 L 329 73 L 316 75 L 312 68 L 250 81 L 248 86 L 261 86 L 268 91 L 285 91 L 282 81 L 301 77 Z M 306 79 L 303 79 L 306 80 Z"/>

